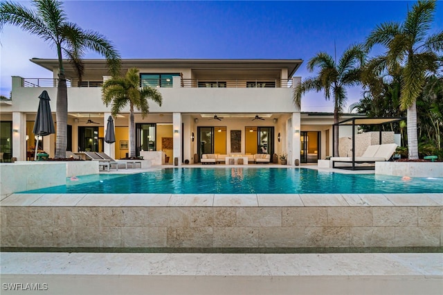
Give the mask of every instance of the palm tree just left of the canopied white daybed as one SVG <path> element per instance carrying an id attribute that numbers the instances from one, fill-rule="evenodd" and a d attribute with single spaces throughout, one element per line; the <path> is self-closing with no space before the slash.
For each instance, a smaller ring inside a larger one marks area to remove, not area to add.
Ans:
<path id="1" fill-rule="evenodd" d="M 346 102 L 346 87 L 359 84 L 360 67 L 365 60 L 365 52 L 360 45 L 353 45 L 334 61 L 331 55 L 320 52 L 309 60 L 307 69 L 312 72 L 319 68 L 318 75 L 302 81 L 293 91 L 293 102 L 300 108 L 301 97 L 307 91 L 325 91 L 325 99 L 331 94 L 334 98 L 334 123 L 338 123 Z M 338 156 L 338 125 L 334 125 L 334 157 Z"/>

